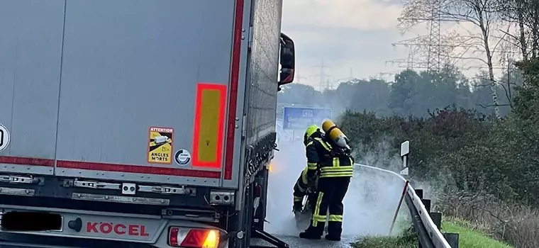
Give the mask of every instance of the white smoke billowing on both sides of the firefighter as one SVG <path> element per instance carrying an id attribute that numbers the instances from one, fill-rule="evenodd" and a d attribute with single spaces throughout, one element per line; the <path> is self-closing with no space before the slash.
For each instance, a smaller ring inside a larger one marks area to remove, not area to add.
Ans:
<path id="1" fill-rule="evenodd" d="M 267 204 L 269 223 L 266 223 L 265 229 L 275 235 L 296 235 L 301 230 L 296 228 L 292 213 L 292 192 L 299 174 L 306 167 L 305 147 L 301 141 L 291 142 L 281 138 L 278 148 L 280 151 L 272 160 L 270 172 Z M 356 159 L 360 162 L 380 160 L 368 156 Z M 388 156 L 383 159 L 384 164 L 388 163 L 388 159 L 392 167 L 398 167 L 399 159 Z M 377 164 L 368 165 L 377 167 Z M 344 201 L 343 236 L 387 235 L 403 186 L 401 179 L 394 175 L 363 167 L 355 168 Z M 404 203 L 401 210 L 406 210 Z M 398 233 L 398 230 L 392 233 Z"/>

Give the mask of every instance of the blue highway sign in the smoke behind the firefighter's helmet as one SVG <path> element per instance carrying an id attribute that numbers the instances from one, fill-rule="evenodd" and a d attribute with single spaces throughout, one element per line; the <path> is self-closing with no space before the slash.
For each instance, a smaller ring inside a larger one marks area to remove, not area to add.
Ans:
<path id="1" fill-rule="evenodd" d="M 323 121 L 331 118 L 331 108 L 313 107 L 284 107 L 283 129 L 302 130 L 309 125 L 322 125 Z"/>

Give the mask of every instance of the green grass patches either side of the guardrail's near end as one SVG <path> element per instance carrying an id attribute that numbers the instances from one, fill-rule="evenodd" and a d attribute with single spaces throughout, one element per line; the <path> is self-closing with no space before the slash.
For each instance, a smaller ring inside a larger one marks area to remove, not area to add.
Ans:
<path id="1" fill-rule="evenodd" d="M 474 225 L 465 220 L 450 218 L 442 223 L 443 232 L 459 233 L 459 247 L 461 248 L 511 248 L 508 244 L 497 241 L 484 235 Z M 352 247 L 355 248 L 412 248 L 418 246 L 416 233 L 412 228 L 404 230 L 396 237 L 363 237 Z"/>

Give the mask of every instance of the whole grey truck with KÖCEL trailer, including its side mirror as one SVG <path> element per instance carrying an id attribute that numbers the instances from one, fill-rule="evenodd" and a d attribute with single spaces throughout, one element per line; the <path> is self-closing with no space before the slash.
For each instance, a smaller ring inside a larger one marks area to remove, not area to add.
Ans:
<path id="1" fill-rule="evenodd" d="M 282 0 L 0 0 L 0 247 L 250 247 Z"/>

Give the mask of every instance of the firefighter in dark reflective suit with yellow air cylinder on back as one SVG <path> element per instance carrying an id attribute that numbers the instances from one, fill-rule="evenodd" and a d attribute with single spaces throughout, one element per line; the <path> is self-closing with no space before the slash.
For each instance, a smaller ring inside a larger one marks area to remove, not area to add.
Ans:
<path id="1" fill-rule="evenodd" d="M 333 122 L 331 122 L 333 123 Z M 335 133 L 336 126 L 327 125 L 323 127 L 326 135 L 323 135 L 320 128 L 311 125 L 304 135 L 307 157 L 307 181 L 309 186 L 316 184 L 316 203 L 312 211 L 311 225 L 299 237 L 304 239 L 321 239 L 324 226 L 326 225 L 327 213 L 328 235 L 326 239 L 339 241 L 343 232 L 343 198 L 350 178 L 353 174 L 354 159 L 350 155 L 348 144 L 337 144 L 330 134 Z M 335 130 L 335 131 L 334 131 Z M 344 134 L 338 130 L 340 139 Z M 348 140 L 348 138 L 347 138 Z M 318 175 L 318 182 L 315 182 Z"/>

